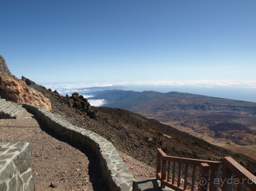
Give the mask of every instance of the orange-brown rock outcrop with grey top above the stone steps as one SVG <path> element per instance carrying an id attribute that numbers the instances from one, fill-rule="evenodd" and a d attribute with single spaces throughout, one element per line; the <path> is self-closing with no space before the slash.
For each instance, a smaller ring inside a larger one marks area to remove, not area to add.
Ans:
<path id="1" fill-rule="evenodd" d="M 51 111 L 51 103 L 42 93 L 29 88 L 24 81 L 10 73 L 0 55 L 0 96 L 15 103 L 29 103 Z"/>

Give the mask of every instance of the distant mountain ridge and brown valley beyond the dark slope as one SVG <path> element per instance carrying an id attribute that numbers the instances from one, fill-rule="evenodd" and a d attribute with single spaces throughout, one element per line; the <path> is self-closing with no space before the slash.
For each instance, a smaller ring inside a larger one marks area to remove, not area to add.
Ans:
<path id="1" fill-rule="evenodd" d="M 108 106 L 129 110 L 208 142 L 256 158 L 256 103 L 191 93 L 92 92 Z M 252 151 L 253 150 L 253 151 Z"/>

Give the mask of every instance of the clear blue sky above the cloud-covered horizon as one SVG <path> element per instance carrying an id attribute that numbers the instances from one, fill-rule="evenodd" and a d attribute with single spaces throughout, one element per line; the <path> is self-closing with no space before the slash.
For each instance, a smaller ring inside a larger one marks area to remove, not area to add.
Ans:
<path id="1" fill-rule="evenodd" d="M 256 80 L 255 0 L 1 0 L 0 55 L 35 82 Z"/>

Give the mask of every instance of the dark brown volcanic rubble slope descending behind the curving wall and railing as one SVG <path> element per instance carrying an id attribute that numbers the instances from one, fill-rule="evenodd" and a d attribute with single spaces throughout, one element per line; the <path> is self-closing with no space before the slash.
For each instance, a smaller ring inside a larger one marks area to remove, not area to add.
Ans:
<path id="1" fill-rule="evenodd" d="M 74 125 L 94 131 L 105 137 L 122 152 L 155 167 L 156 149 L 167 155 L 221 161 L 231 156 L 256 175 L 256 161 L 245 155 L 214 146 L 154 119 L 145 118 L 127 110 L 93 107 L 85 98 L 73 93 L 61 96 L 23 77 L 27 85 L 49 98 L 52 112 Z"/>

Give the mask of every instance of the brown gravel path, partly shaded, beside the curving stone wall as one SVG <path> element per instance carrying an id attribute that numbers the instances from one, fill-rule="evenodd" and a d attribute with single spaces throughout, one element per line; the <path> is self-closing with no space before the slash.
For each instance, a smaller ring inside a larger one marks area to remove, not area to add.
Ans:
<path id="1" fill-rule="evenodd" d="M 32 113 L 24 110 L 18 119 L 0 120 L 0 142 L 11 141 L 30 143 L 36 191 L 108 190 L 98 158 L 82 146 L 49 131 Z M 50 186 L 52 181 L 58 184 L 56 188 Z"/>

